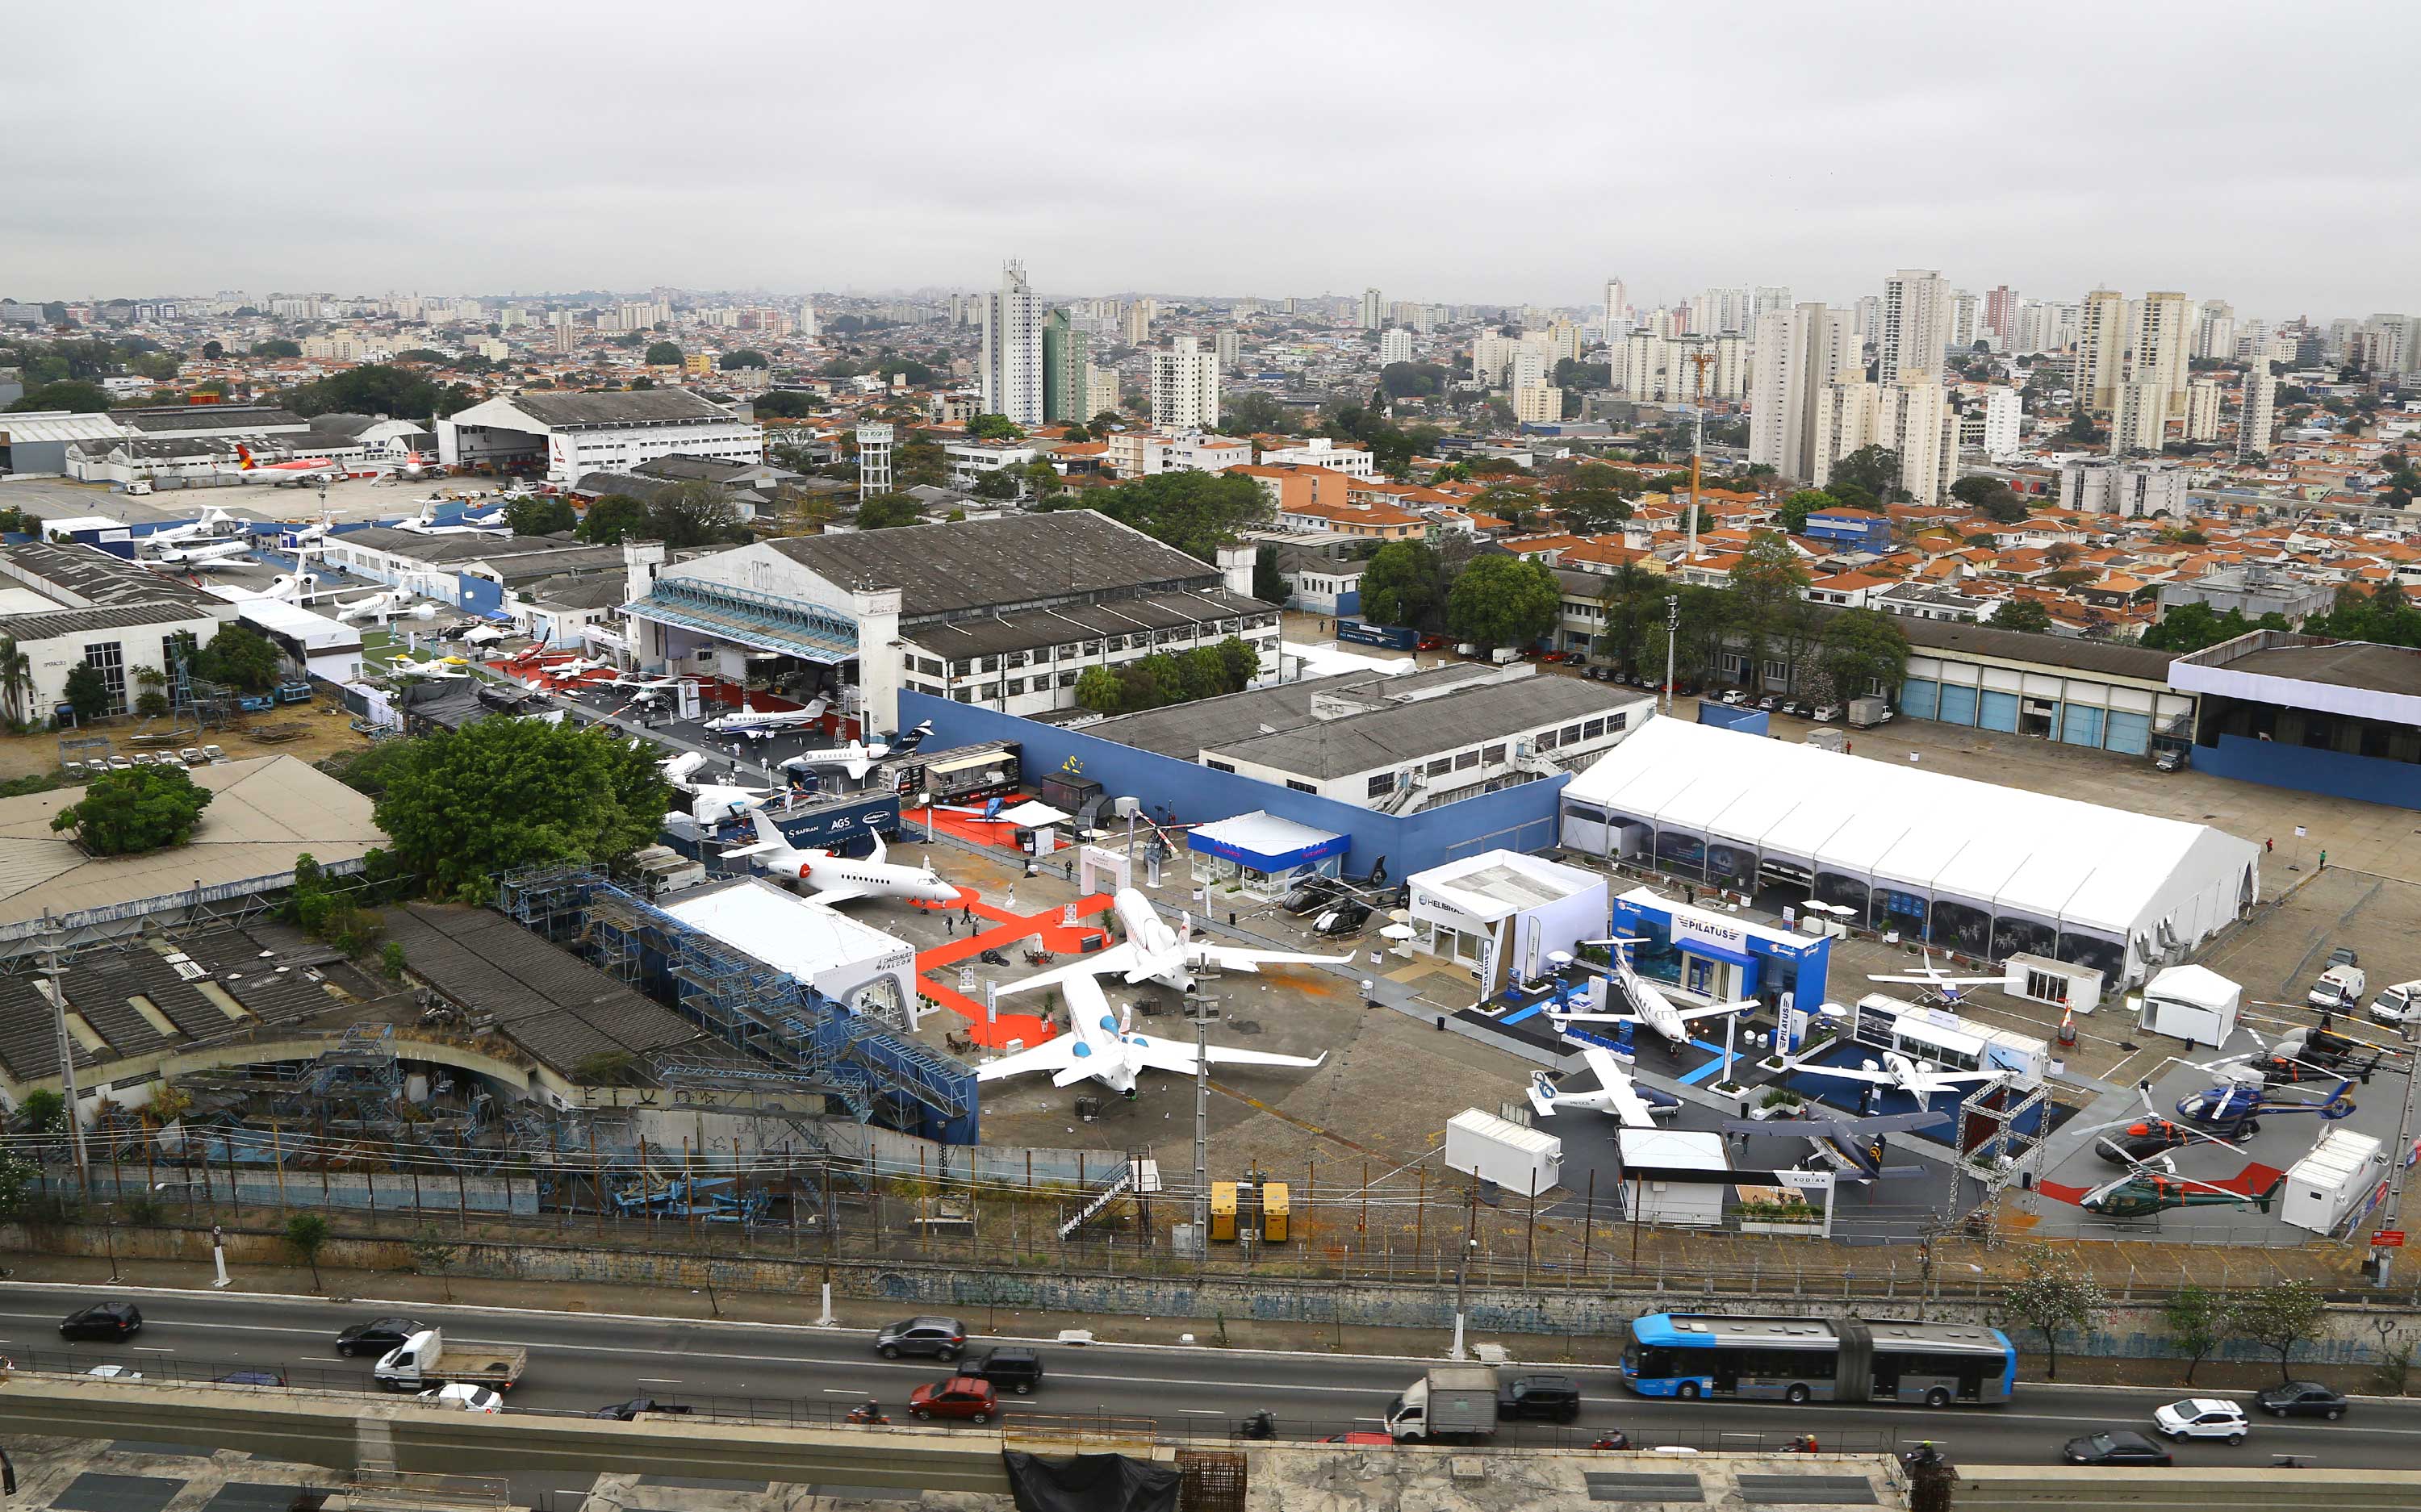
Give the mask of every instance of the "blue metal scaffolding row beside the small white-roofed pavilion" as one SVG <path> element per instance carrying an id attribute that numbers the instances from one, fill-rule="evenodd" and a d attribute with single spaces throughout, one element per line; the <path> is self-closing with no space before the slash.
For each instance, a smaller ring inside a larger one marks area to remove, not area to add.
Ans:
<path id="1" fill-rule="evenodd" d="M 496 907 L 649 992 L 801 1091 L 857 1123 L 976 1142 L 976 1072 L 966 1062 L 852 1014 L 755 956 L 642 902 L 583 866 L 513 871 Z M 702 1069 L 702 1067 L 692 1067 Z M 719 1067 L 709 1074 L 734 1074 Z"/>

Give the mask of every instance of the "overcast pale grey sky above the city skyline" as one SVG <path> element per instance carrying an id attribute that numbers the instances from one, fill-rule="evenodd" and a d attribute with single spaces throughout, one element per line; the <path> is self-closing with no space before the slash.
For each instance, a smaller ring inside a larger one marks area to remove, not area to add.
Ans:
<path id="1" fill-rule="evenodd" d="M 19 7 L 0 293 L 2421 307 L 2377 5 Z"/>

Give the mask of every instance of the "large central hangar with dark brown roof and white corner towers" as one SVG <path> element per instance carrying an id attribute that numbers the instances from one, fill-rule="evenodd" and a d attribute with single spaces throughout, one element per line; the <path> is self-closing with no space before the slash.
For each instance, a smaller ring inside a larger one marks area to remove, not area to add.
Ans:
<path id="1" fill-rule="evenodd" d="M 1005 714 L 1075 706 L 1087 668 L 1237 636 L 1264 675 L 1278 605 L 1252 552 L 1201 561 L 1094 510 L 755 542 L 666 566 L 622 607 L 639 670 L 806 699 L 901 728 L 901 692 Z"/>

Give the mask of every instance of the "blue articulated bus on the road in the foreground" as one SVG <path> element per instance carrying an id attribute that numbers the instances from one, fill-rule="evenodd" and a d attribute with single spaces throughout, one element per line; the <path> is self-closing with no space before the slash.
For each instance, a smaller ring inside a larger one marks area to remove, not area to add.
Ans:
<path id="1" fill-rule="evenodd" d="M 2017 1386 L 2000 1328 L 1896 1318 L 1644 1314 L 1622 1350 L 1639 1396 L 1997 1406 Z"/>

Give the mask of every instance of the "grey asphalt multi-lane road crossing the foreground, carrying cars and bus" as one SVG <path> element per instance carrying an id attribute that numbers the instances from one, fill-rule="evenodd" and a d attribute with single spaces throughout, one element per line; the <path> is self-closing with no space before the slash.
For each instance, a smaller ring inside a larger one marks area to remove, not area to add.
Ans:
<path id="1" fill-rule="evenodd" d="M 68 1343 L 58 1321 L 97 1299 L 123 1297 L 143 1309 L 143 1333 L 133 1343 Z M 467 1306 L 395 1306 L 378 1302 L 332 1304 L 307 1297 L 259 1297 L 215 1292 L 143 1292 L 109 1287 L 0 1285 L 0 1355 L 44 1369 L 63 1364 L 123 1364 L 153 1377 L 208 1379 L 232 1369 L 281 1367 L 298 1386 L 370 1389 L 370 1360 L 341 1360 L 334 1335 L 346 1323 L 412 1314 L 441 1328 L 499 1343 L 528 1345 L 530 1372 L 508 1398 L 508 1410 L 596 1410 L 629 1396 L 695 1403 L 700 1410 L 821 1418 L 867 1396 L 898 1420 L 920 1381 L 947 1367 L 930 1360 L 881 1360 L 874 1355 L 876 1323 L 908 1309 L 855 1302 L 843 1309 L 847 1328 L 690 1323 L 550 1311 Z M 801 1318 L 811 1316 L 811 1304 Z M 971 1328 L 983 1316 L 964 1318 Z M 973 1347 L 990 1340 L 978 1335 Z M 1036 1343 L 1036 1340 L 1017 1340 Z M 1286 1437 L 1324 1437 L 1378 1427 L 1387 1398 L 1421 1369 L 1424 1360 L 1327 1355 L 1315 1340 L 1305 1352 L 1152 1347 L 1152 1345 L 1056 1345 L 1039 1343 L 1048 1377 L 1034 1396 L 1005 1398 L 1005 1415 L 1104 1415 L 1123 1422 L 1155 1420 L 1162 1435 L 1220 1437 L 1259 1408 L 1278 1415 Z M 1557 1367 L 1542 1367 L 1557 1369 Z M 1796 1432 L 1813 1432 L 1825 1447 L 1874 1449 L 1934 1439 L 1951 1456 L 1973 1464 L 2046 1464 L 2065 1439 L 2097 1427 L 2150 1430 L 2152 1408 L 2184 1391 L 2118 1391 L 2092 1386 L 2019 1384 L 2007 1408 L 1833 1408 L 1765 1403 L 1663 1403 L 1622 1391 L 1612 1372 L 1586 1367 L 1586 1406 L 1571 1430 L 1525 1425 L 1513 1442 L 1588 1444 L 1620 1427 L 1634 1444 L 1692 1444 L 1702 1449 L 1777 1447 Z M 2206 1396 L 2247 1393 L 2208 1391 Z M 1738 1437 L 1733 1437 L 1738 1435 Z M 2225 1444 L 2176 1444 L 2181 1466 L 2266 1466 L 2271 1454 L 2307 1454 L 2322 1466 L 2409 1468 L 2421 1464 L 2421 1403 L 2356 1401 L 2344 1422 L 2276 1422 L 2254 1418 L 2252 1439 Z"/>

